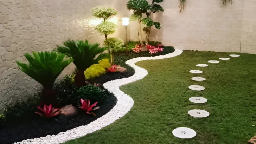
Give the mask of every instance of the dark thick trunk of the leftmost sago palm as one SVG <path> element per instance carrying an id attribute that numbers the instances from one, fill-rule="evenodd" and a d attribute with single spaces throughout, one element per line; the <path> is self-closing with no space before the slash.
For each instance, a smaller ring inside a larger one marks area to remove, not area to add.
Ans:
<path id="1" fill-rule="evenodd" d="M 53 107 L 60 107 L 57 100 L 56 91 L 53 89 L 53 86 L 44 87 L 42 90 L 39 106 L 44 107 L 45 104 L 48 106 L 52 104 Z"/>

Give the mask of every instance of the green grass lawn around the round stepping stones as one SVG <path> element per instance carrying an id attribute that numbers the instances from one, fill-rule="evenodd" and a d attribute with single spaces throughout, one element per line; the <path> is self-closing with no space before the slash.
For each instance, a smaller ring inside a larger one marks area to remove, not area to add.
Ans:
<path id="1" fill-rule="evenodd" d="M 134 99 L 134 106 L 113 124 L 71 140 L 65 144 L 242 144 L 255 132 L 252 125 L 252 96 L 255 83 L 256 55 L 240 54 L 231 60 L 230 53 L 184 51 L 178 57 L 137 63 L 148 70 L 142 80 L 121 87 Z M 207 63 L 219 60 L 218 64 Z M 209 64 L 209 67 L 196 67 Z M 202 74 L 189 73 L 202 70 Z M 204 77 L 196 82 L 192 77 Z M 188 89 L 202 85 L 204 91 Z M 193 104 L 188 98 L 202 96 L 206 104 Z M 187 112 L 204 109 L 207 118 L 195 119 Z M 192 139 L 172 135 L 177 127 L 197 132 Z"/>

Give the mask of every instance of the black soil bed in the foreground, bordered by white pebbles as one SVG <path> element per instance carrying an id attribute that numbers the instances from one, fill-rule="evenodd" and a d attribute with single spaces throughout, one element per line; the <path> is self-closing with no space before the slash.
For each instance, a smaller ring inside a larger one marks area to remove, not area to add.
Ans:
<path id="1" fill-rule="evenodd" d="M 19 124 L 9 124 L 5 128 L 0 129 L 0 143 L 10 144 L 20 142 L 26 139 L 40 138 L 47 135 L 57 135 L 60 132 L 87 125 L 90 122 L 102 117 L 116 105 L 117 99 L 112 94 L 109 96 L 100 109 L 93 111 L 96 116 L 87 114 L 84 111 L 79 111 L 75 117 L 56 116 L 50 119 L 43 119 L 37 114 L 33 117 L 28 117 Z M 33 119 L 32 119 L 33 118 Z"/>

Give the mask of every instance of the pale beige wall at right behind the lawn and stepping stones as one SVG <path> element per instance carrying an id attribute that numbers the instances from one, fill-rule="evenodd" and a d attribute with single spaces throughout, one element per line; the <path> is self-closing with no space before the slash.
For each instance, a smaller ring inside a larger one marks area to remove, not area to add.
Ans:
<path id="1" fill-rule="evenodd" d="M 256 0 L 188 0 L 179 13 L 177 1 L 164 0 L 164 12 L 153 14 L 162 24 L 152 30 L 151 40 L 183 50 L 242 52 L 256 54 Z M 137 23 L 131 39 L 137 40 Z"/>

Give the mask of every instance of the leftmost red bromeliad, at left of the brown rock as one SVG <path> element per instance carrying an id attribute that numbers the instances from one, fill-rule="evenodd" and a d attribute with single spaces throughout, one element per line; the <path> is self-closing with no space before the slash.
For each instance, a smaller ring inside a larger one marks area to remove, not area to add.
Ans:
<path id="1" fill-rule="evenodd" d="M 37 106 L 37 108 L 41 110 L 43 113 L 36 112 L 36 114 L 39 114 L 41 117 L 45 117 L 45 118 L 54 117 L 60 113 L 58 111 L 59 109 L 55 109 L 54 107 L 52 107 L 52 104 L 50 104 L 49 106 L 44 105 L 44 109 L 42 109 L 40 106 Z"/>

